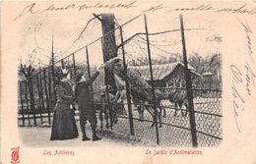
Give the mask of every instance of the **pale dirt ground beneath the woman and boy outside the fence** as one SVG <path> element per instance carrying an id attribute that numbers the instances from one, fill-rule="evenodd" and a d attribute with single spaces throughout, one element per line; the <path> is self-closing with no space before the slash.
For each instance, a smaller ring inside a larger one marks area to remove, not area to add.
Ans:
<path id="1" fill-rule="evenodd" d="M 78 127 L 79 128 L 79 127 Z M 87 127 L 89 137 L 92 137 L 91 128 Z M 97 130 L 99 137 L 98 141 L 82 141 L 82 133 L 79 129 L 79 137 L 67 140 L 50 140 L 51 128 L 42 127 L 20 127 L 19 135 L 23 142 L 32 147 L 42 146 L 140 146 L 142 143 L 137 138 L 126 137 L 111 133 L 110 131 Z"/>

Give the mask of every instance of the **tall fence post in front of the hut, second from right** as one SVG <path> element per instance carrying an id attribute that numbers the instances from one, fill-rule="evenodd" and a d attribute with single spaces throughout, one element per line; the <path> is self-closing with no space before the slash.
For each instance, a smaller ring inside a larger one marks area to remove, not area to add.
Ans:
<path id="1" fill-rule="evenodd" d="M 148 31 L 148 25 L 147 25 L 147 18 L 146 15 L 144 15 L 144 22 L 145 22 L 145 30 L 146 30 L 146 37 L 147 37 L 147 47 L 148 47 L 148 54 L 149 54 L 149 64 L 150 64 L 150 72 L 151 72 L 151 82 L 152 82 L 152 94 L 153 94 L 153 105 L 154 105 L 154 111 L 155 111 L 155 123 L 156 123 L 156 134 L 157 134 L 157 143 L 160 144 L 160 135 L 159 135 L 159 126 L 158 126 L 158 109 L 156 104 L 156 93 L 155 93 L 155 83 L 153 79 L 153 71 L 152 71 L 152 60 L 151 60 L 151 48 L 150 48 L 150 38 L 149 38 L 149 31 Z"/>

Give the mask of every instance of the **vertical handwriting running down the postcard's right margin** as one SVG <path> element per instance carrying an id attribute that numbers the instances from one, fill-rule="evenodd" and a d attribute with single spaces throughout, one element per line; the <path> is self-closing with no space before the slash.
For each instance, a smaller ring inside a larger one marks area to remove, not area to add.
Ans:
<path id="1" fill-rule="evenodd" d="M 245 24 L 239 21 L 239 24 L 243 27 L 245 32 L 246 39 L 246 48 L 247 48 L 247 58 L 245 64 L 240 69 L 238 66 L 232 64 L 230 65 L 230 71 L 232 75 L 232 108 L 234 114 L 234 120 L 237 127 L 237 130 L 241 132 L 238 117 L 241 111 L 244 111 L 244 105 L 246 103 L 245 98 L 251 96 L 252 89 L 255 87 L 254 79 L 256 78 L 255 73 L 251 69 L 251 65 L 254 63 L 253 61 L 253 51 L 252 51 L 252 40 L 251 35 L 253 34 L 251 27 L 248 24 Z M 238 88 L 238 86 L 241 86 Z M 244 95 L 244 90 L 246 94 Z"/>

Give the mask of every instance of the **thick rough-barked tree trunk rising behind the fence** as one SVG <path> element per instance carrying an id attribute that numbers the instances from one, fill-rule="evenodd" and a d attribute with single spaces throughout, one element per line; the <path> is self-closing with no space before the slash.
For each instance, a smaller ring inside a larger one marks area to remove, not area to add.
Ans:
<path id="1" fill-rule="evenodd" d="M 102 34 L 104 35 L 104 37 L 102 38 L 103 62 L 106 62 L 109 59 L 117 56 L 115 34 L 114 34 L 114 31 L 111 31 L 114 29 L 114 15 L 101 14 L 100 16 L 101 16 Z M 107 70 L 105 70 L 105 84 L 109 84 L 113 87 L 113 89 L 116 89 L 114 75 L 113 73 Z M 115 92 L 116 91 L 113 91 L 113 93 Z"/>

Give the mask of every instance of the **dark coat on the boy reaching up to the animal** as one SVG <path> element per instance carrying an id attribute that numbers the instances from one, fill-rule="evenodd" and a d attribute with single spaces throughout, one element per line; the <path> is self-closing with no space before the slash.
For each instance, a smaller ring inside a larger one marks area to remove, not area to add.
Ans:
<path id="1" fill-rule="evenodd" d="M 91 84 L 96 80 L 99 75 L 96 72 L 87 82 L 78 82 L 75 86 L 75 99 L 78 103 L 80 119 L 85 118 L 87 115 L 95 115 L 95 104 L 93 96 L 90 92 Z"/>

